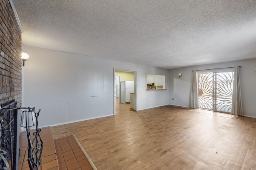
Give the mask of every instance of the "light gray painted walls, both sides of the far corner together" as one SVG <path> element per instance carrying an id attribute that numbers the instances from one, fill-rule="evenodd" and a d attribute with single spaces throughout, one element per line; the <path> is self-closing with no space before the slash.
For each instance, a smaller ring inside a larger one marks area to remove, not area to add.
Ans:
<path id="1" fill-rule="evenodd" d="M 142 110 L 190 107 L 192 70 L 240 65 L 244 115 L 256 117 L 256 59 L 167 70 L 28 46 L 23 51 L 30 58 L 22 68 L 22 105 L 41 109 L 40 127 L 113 115 L 114 69 L 136 72 L 136 109 Z M 167 90 L 146 91 L 146 72 L 165 75 Z"/>

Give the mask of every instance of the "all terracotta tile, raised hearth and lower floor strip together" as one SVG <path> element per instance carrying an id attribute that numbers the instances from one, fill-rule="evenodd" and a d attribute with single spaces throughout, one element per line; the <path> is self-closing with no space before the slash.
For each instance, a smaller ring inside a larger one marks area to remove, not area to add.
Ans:
<path id="1" fill-rule="evenodd" d="M 53 139 L 50 127 L 40 128 L 43 141 L 41 166 L 38 170 L 96 170 L 86 152 L 80 148 L 73 135 Z M 34 130 L 31 130 L 31 134 Z M 31 139 L 33 135 L 31 135 Z M 19 170 L 30 170 L 28 165 L 28 138 L 26 131 L 20 134 Z M 90 162 L 92 165 L 90 164 Z M 92 168 L 92 166 L 94 168 Z M 10 168 L 11 169 L 11 168 Z"/>

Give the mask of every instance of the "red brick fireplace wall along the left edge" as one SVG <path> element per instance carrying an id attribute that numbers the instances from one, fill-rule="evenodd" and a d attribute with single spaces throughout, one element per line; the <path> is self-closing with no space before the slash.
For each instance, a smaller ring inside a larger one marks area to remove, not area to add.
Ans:
<path id="1" fill-rule="evenodd" d="M 21 31 L 9 0 L 0 0 L 0 104 L 21 103 Z"/>

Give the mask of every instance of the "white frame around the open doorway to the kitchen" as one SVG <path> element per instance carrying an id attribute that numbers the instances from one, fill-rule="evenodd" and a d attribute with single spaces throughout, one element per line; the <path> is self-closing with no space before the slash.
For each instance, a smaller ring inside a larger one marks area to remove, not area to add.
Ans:
<path id="1" fill-rule="evenodd" d="M 134 110 L 137 110 L 137 71 L 134 71 L 134 70 L 124 70 L 124 69 L 119 69 L 119 68 L 113 68 L 113 114 L 115 115 L 115 91 L 114 91 L 114 81 L 115 81 L 115 71 L 118 70 L 118 71 L 124 71 L 124 72 L 134 72 Z M 119 79 L 120 81 L 120 79 Z M 119 90 L 120 90 L 120 87 L 119 87 Z M 120 94 L 119 94 L 119 100 L 120 100 Z"/>

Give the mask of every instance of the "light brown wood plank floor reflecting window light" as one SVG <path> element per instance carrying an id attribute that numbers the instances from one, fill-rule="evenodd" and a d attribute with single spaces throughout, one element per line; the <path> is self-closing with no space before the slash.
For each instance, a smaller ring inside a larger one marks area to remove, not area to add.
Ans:
<path id="1" fill-rule="evenodd" d="M 256 119 L 163 106 L 52 127 L 75 134 L 98 170 L 256 170 Z"/>

